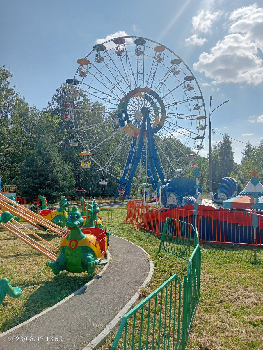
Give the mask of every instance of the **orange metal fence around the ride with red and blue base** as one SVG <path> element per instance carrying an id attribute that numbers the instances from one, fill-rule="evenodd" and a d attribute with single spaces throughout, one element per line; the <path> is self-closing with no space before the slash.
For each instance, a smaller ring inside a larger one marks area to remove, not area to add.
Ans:
<path id="1" fill-rule="evenodd" d="M 129 201 L 126 222 L 160 236 L 166 218 L 192 224 L 199 232 L 199 241 L 263 246 L 263 212 L 164 209 Z"/>

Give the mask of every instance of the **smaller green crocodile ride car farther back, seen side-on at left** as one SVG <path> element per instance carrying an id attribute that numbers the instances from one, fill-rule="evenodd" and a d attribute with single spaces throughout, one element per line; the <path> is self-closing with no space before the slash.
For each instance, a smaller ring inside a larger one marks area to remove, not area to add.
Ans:
<path id="1" fill-rule="evenodd" d="M 54 224 L 57 224 L 60 227 L 65 227 L 65 222 L 67 219 L 67 212 L 66 208 L 70 207 L 71 203 L 68 203 L 66 200 L 66 197 L 62 197 L 59 202 L 59 208 L 58 210 L 53 209 L 47 209 L 47 203 L 46 198 L 44 196 L 38 195 L 38 198 L 40 198 L 42 203 L 42 208 L 39 210 L 38 215 L 42 216 L 43 218 L 53 222 Z"/>

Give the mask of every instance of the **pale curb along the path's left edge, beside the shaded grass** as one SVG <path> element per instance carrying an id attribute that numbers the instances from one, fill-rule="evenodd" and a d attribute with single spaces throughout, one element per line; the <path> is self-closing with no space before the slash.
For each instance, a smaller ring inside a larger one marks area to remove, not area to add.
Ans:
<path id="1" fill-rule="evenodd" d="M 106 253 L 107 253 L 107 261 L 109 262 L 109 261 L 110 261 L 110 253 L 109 253 L 109 251 L 106 251 Z M 90 284 L 93 283 L 95 280 L 97 280 L 98 278 L 100 278 L 100 276 L 103 274 L 104 271 L 106 271 L 106 269 L 108 268 L 108 266 L 109 266 L 109 263 L 106 264 L 106 265 L 103 267 L 103 269 L 101 270 L 101 272 L 99 272 L 95 277 L 93 277 L 92 280 L 90 280 L 89 282 L 87 282 L 84 286 L 80 287 L 80 288 L 79 288 L 78 290 L 76 290 L 74 293 L 68 295 L 66 298 L 64 298 L 63 300 L 59 301 L 58 303 L 56 303 L 55 305 L 51 306 L 50 308 L 48 308 L 48 309 L 42 311 L 41 313 L 39 313 L 39 314 L 37 314 L 37 315 L 35 315 L 35 316 L 29 318 L 27 321 L 24 321 L 24 322 L 22 322 L 22 323 L 20 323 L 20 324 L 17 324 L 15 327 L 10 328 L 10 329 L 8 329 L 7 331 L 1 333 L 1 334 L 0 334 L 0 338 L 3 337 L 3 336 L 5 336 L 5 335 L 7 335 L 7 334 L 10 333 L 10 332 L 13 332 L 13 331 L 16 330 L 16 329 L 22 327 L 23 325 L 25 325 L 25 324 L 27 324 L 27 323 L 29 323 L 29 322 L 35 320 L 35 319 L 38 318 L 39 316 L 44 315 L 44 314 L 47 313 L 48 311 L 53 310 L 54 308 L 58 307 L 59 305 L 61 305 L 61 304 L 63 304 L 64 302 L 68 301 L 69 299 L 71 299 L 73 296 L 80 294 L 80 293 L 82 292 L 83 289 L 86 289 L 88 285 L 90 285 Z"/>

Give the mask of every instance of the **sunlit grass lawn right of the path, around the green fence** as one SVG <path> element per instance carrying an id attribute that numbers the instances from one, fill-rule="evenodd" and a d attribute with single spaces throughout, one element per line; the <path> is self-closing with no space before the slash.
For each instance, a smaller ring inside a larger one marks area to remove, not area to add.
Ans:
<path id="1" fill-rule="evenodd" d="M 159 239 L 130 225 L 112 225 L 112 232 L 143 247 L 154 261 L 152 285 L 143 297 L 177 273 L 180 280 L 187 262 L 159 248 Z M 263 250 L 252 247 L 204 244 L 201 257 L 201 293 L 186 349 L 263 349 Z M 110 349 L 114 336 L 103 345 Z M 122 348 L 120 344 L 119 348 Z"/>

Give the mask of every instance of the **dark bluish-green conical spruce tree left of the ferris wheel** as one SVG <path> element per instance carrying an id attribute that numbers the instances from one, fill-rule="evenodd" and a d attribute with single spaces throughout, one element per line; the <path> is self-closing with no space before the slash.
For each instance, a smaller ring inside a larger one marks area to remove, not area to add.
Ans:
<path id="1" fill-rule="evenodd" d="M 47 134 L 19 164 L 19 170 L 19 193 L 29 200 L 41 194 L 49 203 L 54 203 L 57 198 L 67 194 L 71 185 L 68 167 Z"/>

